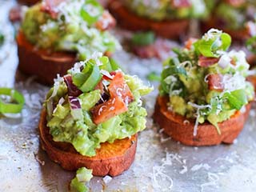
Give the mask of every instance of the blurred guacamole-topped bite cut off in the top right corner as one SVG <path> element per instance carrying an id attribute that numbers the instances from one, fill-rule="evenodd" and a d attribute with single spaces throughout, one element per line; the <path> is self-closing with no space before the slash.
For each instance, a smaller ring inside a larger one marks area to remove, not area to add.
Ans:
<path id="1" fill-rule="evenodd" d="M 206 2 L 212 2 L 207 0 Z M 250 26 L 247 22 L 254 21 L 256 16 L 256 3 L 246 0 L 215 1 L 211 17 L 203 22 L 203 30 L 212 27 L 224 30 L 236 40 L 246 40 L 249 37 Z"/>

